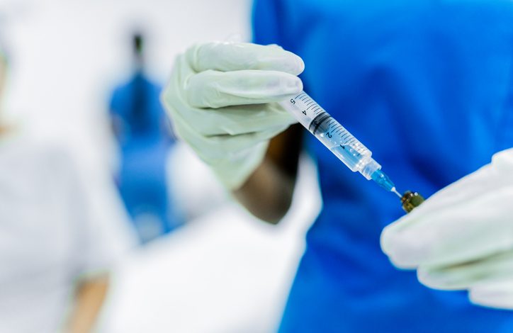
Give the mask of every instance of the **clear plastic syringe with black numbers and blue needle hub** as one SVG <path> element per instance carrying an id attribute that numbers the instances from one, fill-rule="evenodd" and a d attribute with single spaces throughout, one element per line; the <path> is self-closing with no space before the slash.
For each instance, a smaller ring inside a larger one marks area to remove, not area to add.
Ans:
<path id="1" fill-rule="evenodd" d="M 320 140 L 351 171 L 359 171 L 366 179 L 376 181 L 385 190 L 401 195 L 381 166 L 371 156 L 372 152 L 340 125 L 304 91 L 280 103 L 301 125 Z"/>

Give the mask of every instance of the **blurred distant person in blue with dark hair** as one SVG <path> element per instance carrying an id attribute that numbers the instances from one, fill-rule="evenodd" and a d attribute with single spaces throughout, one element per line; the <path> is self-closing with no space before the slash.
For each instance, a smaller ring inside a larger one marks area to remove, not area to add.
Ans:
<path id="1" fill-rule="evenodd" d="M 161 86 L 145 73 L 144 38 L 132 38 L 134 73 L 112 94 L 112 128 L 121 150 L 116 183 L 142 242 L 181 223 L 167 188 L 172 144 L 169 120 L 159 102 Z"/>

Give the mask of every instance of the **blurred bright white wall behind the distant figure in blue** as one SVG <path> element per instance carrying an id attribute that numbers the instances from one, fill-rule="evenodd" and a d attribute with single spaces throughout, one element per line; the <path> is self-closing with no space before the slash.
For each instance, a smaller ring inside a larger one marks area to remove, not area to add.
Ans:
<path id="1" fill-rule="evenodd" d="M 147 32 L 149 72 L 164 82 L 174 57 L 205 40 L 249 40 L 250 0 L 0 0 L 11 53 L 6 115 L 79 142 L 105 159 L 108 92 L 130 70 L 130 33 Z"/>

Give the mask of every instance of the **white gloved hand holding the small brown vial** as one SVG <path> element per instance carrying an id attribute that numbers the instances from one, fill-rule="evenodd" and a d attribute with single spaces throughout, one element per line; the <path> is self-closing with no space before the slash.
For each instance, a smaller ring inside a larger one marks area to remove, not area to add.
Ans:
<path id="1" fill-rule="evenodd" d="M 513 309 L 513 149 L 385 227 L 381 247 L 426 286 Z"/>

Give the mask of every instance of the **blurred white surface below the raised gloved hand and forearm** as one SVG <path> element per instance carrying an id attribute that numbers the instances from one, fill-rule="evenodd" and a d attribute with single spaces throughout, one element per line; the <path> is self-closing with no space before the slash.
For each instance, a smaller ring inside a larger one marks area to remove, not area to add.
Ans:
<path id="1" fill-rule="evenodd" d="M 274 332 L 320 209 L 314 175 L 303 159 L 277 226 L 233 203 L 141 249 L 115 272 L 100 332 Z"/>

